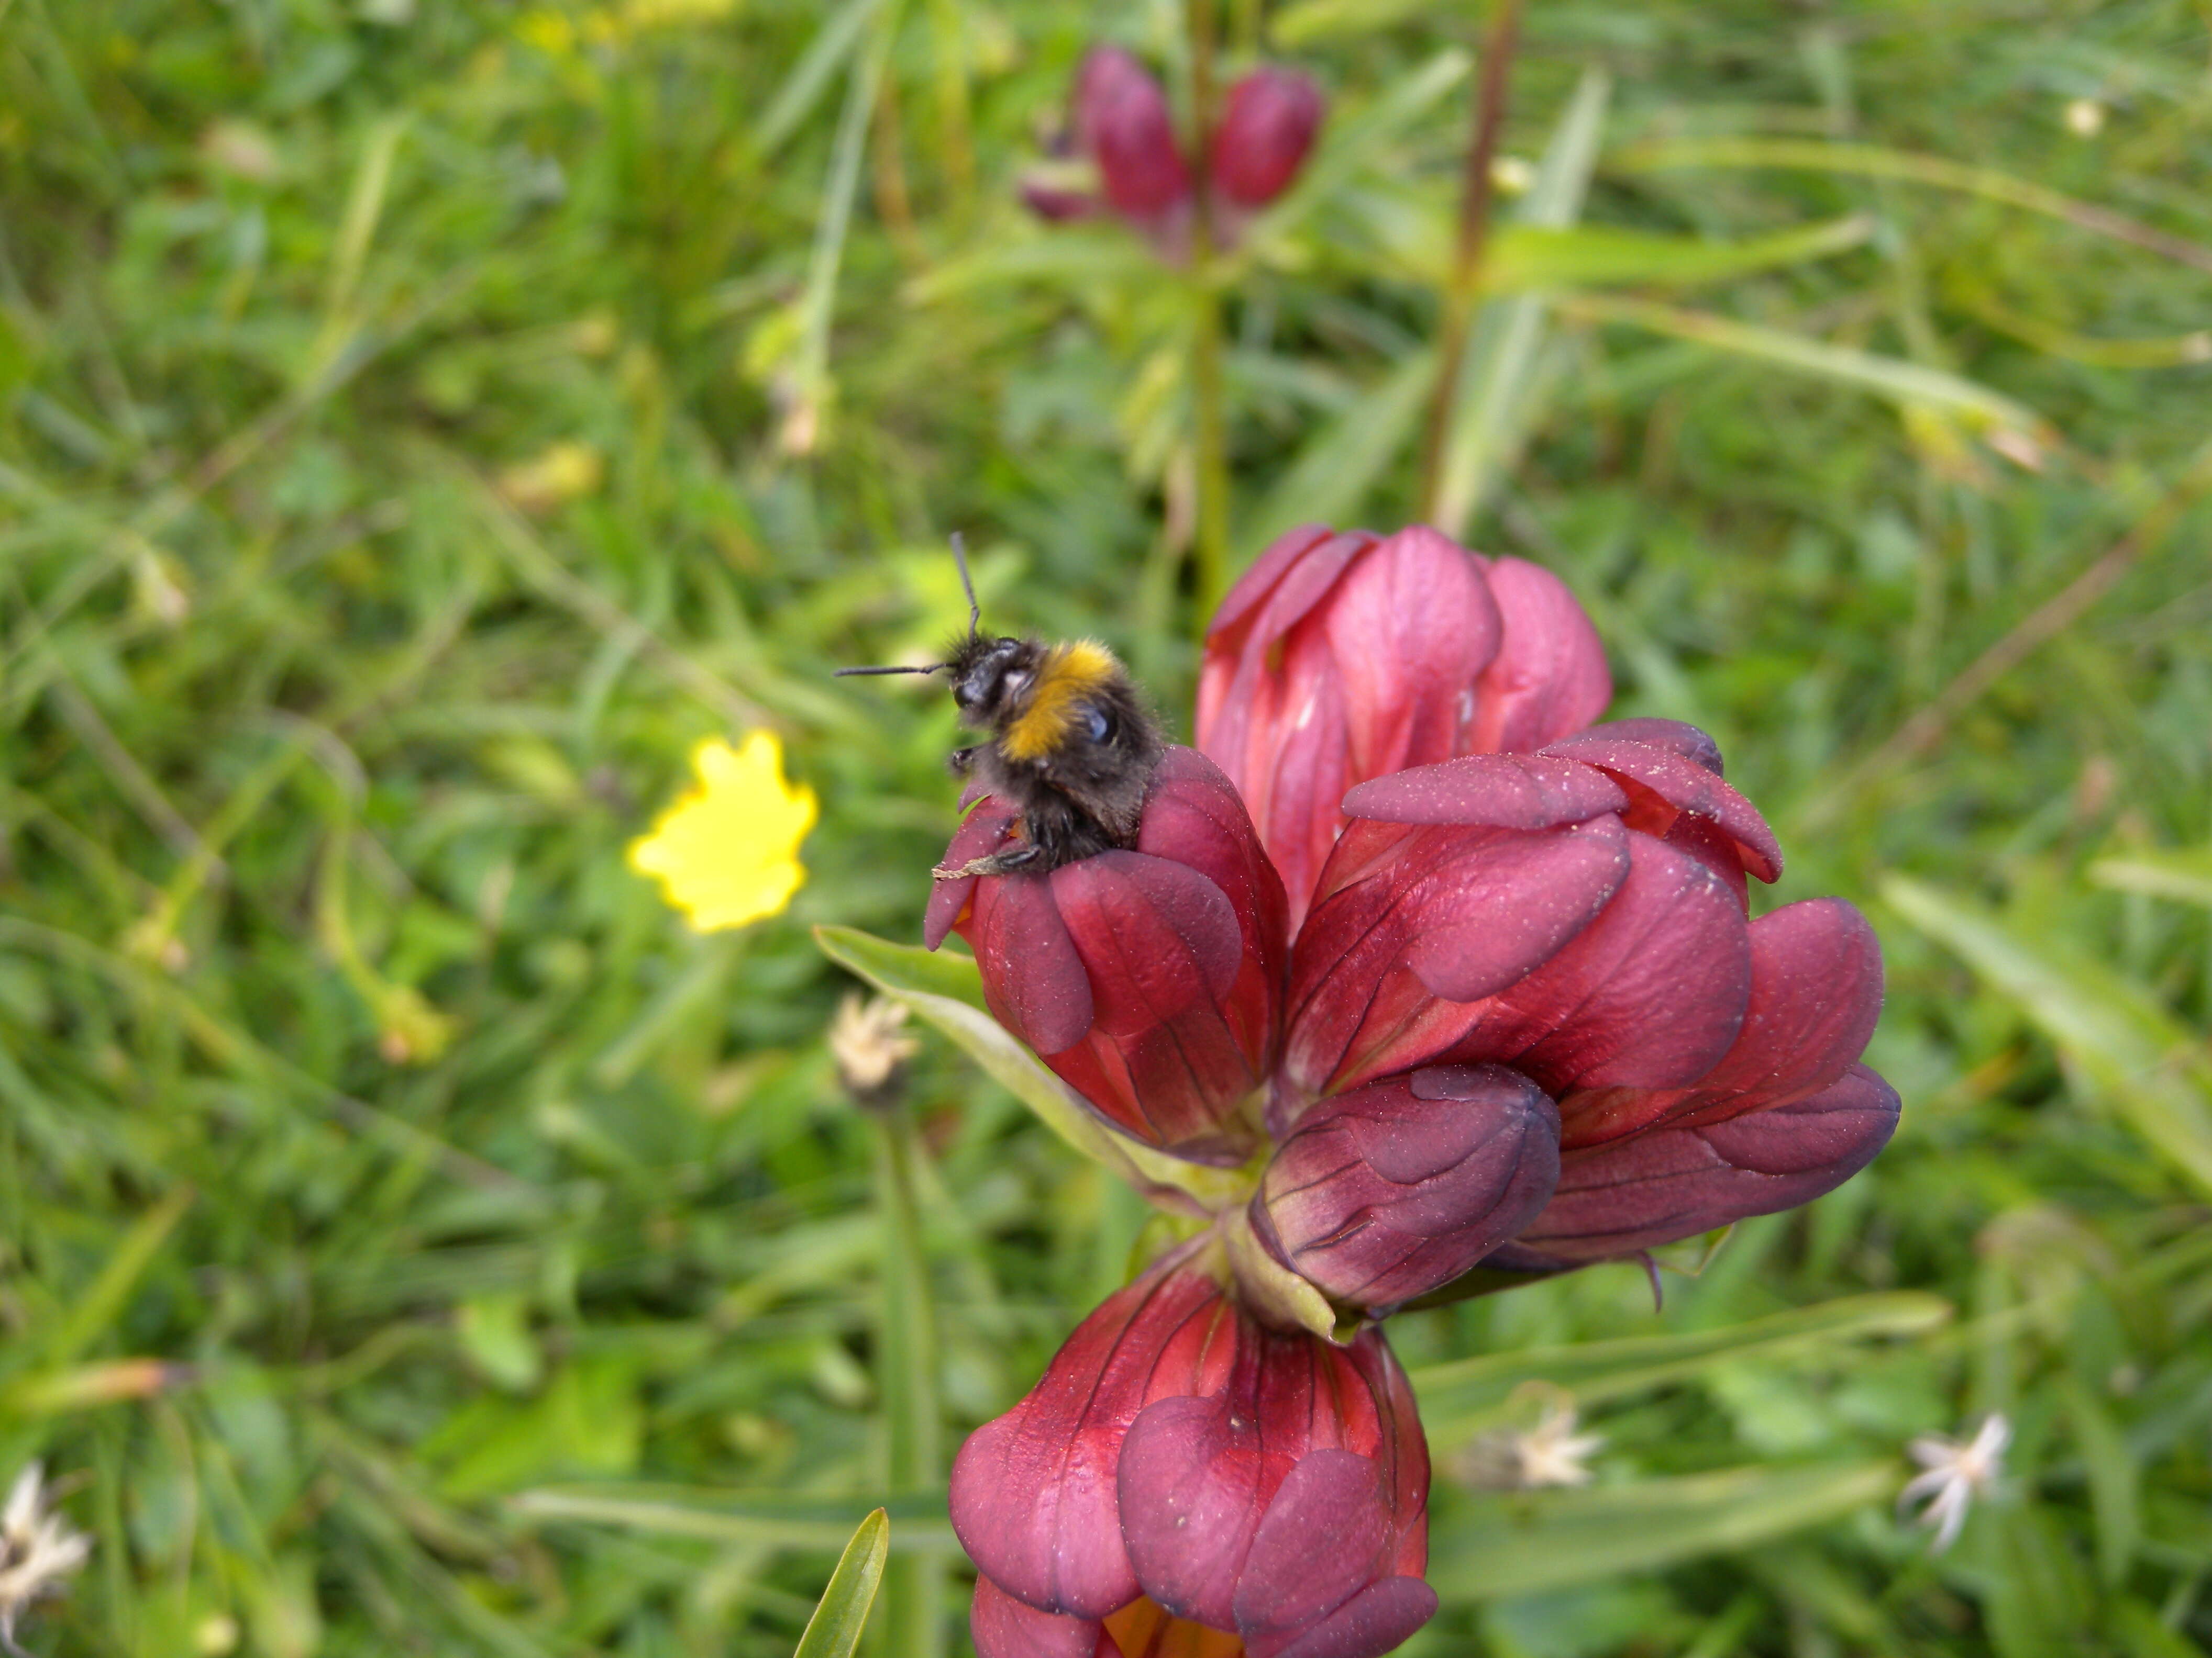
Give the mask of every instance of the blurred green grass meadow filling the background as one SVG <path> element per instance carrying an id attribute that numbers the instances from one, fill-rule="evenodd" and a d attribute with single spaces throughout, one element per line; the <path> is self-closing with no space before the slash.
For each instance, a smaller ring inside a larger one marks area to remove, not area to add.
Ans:
<path id="1" fill-rule="evenodd" d="M 825 674 L 962 619 L 964 528 L 991 617 L 1188 707 L 1181 287 L 1011 197 L 1082 46 L 1175 11 L 0 0 L 0 1477 L 100 1539 L 38 1651 L 787 1654 L 878 1501 L 894 1574 L 942 1559 L 916 1399 L 947 1446 L 1004 1408 L 1144 1214 L 936 1043 L 936 1362 L 885 1320 L 807 928 L 914 937 L 951 710 Z M 1334 113 L 1239 256 L 1245 550 L 1411 511 L 1480 31 L 1267 20 Z M 1579 219 L 1498 248 L 1471 533 L 1575 584 L 1619 712 L 1714 730 L 1778 900 L 1876 915 L 1907 1116 L 1659 1318 L 1601 1269 L 1394 1326 L 1608 1437 L 1588 1492 L 1442 1463 L 1411 1654 L 2212 1640 L 2212 513 L 2006 646 L 2201 442 L 2208 44 L 2179 0 L 1528 18 L 1513 155 L 1610 91 Z M 622 844 L 763 721 L 812 880 L 686 937 Z M 1955 1318 L 1759 1340 L 1876 1291 Z M 1637 1340 L 1688 1346 L 1542 1357 Z M 1929 1559 L 1880 1468 L 1993 1408 Z M 874 1643 L 958 1649 L 936 1572 Z"/>

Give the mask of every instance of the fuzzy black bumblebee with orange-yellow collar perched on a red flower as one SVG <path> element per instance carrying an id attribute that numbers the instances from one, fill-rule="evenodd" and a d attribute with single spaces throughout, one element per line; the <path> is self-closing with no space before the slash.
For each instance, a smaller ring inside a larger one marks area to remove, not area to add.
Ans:
<path id="1" fill-rule="evenodd" d="M 969 630 L 929 668 L 841 668 L 838 674 L 949 674 L 953 705 L 989 743 L 956 749 L 953 776 L 1015 809 L 1013 840 L 989 858 L 933 871 L 1042 875 L 1113 847 L 1135 847 L 1144 796 L 1166 749 L 1128 670 L 1095 639 L 1048 646 L 982 632 L 967 548 L 953 537 Z"/>

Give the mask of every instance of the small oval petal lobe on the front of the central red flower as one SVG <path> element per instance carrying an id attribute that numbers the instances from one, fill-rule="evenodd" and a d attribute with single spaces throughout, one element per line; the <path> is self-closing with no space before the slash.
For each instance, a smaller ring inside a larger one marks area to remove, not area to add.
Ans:
<path id="1" fill-rule="evenodd" d="M 1504 990 L 1557 955 L 1628 878 L 1628 833 L 1599 818 L 1564 833 L 1482 831 L 1407 900 L 1405 964 L 1449 1001 Z"/>

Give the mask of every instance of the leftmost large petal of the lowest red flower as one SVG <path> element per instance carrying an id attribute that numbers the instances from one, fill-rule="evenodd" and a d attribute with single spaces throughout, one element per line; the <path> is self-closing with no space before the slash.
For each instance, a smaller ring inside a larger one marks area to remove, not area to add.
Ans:
<path id="1" fill-rule="evenodd" d="M 1237 1320 L 1186 1247 L 1086 1318 L 1013 1410 L 960 1448 L 951 1521 L 969 1559 L 1040 1609 L 1102 1618 L 1137 1598 L 1115 1463 L 1155 1397 L 1223 1386 Z"/>

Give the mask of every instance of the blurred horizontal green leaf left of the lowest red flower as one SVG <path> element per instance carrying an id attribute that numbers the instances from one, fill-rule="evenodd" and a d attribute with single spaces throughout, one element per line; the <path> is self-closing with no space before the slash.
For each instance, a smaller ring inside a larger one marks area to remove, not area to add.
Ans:
<path id="1" fill-rule="evenodd" d="M 515 1492 L 507 1512 L 526 1521 L 622 1525 L 659 1536 L 701 1536 L 710 1543 L 750 1543 L 787 1550 L 834 1550 L 852 1534 L 854 1510 L 865 1497 L 794 1497 L 792 1492 L 717 1492 L 695 1486 L 540 1486 Z M 874 1505 L 898 1521 L 891 1536 L 900 1554 L 947 1554 L 960 1547 L 945 1517 L 945 1492 L 907 1492 Z"/>

